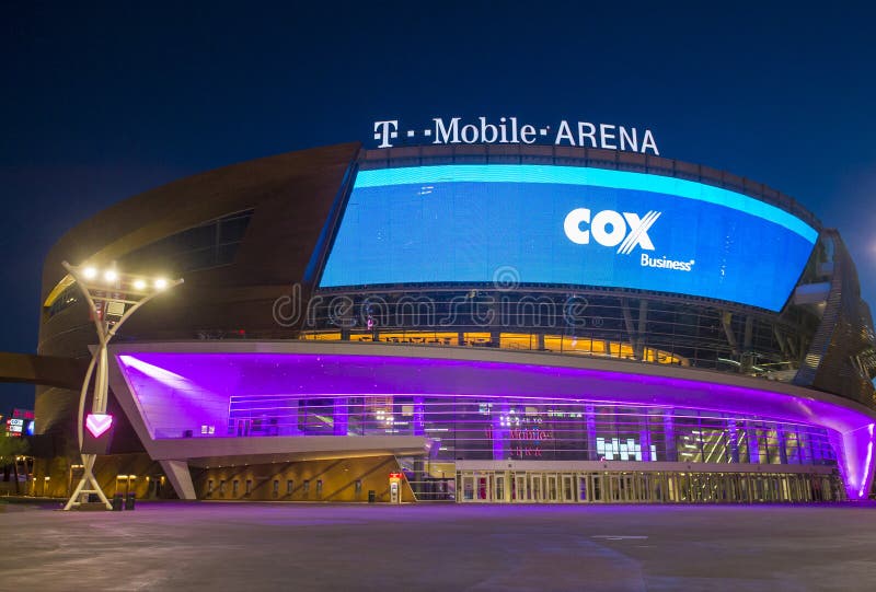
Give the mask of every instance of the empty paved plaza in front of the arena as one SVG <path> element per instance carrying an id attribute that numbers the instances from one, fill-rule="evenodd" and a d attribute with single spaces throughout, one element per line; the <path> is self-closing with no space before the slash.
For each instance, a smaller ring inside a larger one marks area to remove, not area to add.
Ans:
<path id="1" fill-rule="evenodd" d="M 0 510 L 0 590 L 876 590 L 873 504 L 54 507 Z"/>

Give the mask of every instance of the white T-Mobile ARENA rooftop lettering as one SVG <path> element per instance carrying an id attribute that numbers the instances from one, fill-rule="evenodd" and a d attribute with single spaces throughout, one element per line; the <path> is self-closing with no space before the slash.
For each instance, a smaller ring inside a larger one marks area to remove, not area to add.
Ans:
<path id="1" fill-rule="evenodd" d="M 534 144 L 576 146 L 624 150 L 659 155 L 650 129 L 615 124 L 591 124 L 561 119 L 555 125 L 526 123 L 517 117 L 433 117 L 426 126 L 402 128 L 399 119 L 374 121 L 378 148 L 392 148 L 403 140 L 431 144 Z"/>

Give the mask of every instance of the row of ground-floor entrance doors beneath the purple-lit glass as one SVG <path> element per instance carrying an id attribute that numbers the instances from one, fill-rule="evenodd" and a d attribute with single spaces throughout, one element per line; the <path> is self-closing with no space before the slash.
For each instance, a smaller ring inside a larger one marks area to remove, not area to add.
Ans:
<path id="1" fill-rule="evenodd" d="M 462 468 L 463 503 L 754 503 L 844 499 L 833 473 Z"/>

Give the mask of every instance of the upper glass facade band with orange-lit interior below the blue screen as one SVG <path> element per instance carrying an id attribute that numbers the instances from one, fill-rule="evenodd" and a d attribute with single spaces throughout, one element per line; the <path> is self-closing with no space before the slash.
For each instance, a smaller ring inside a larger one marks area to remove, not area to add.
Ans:
<path id="1" fill-rule="evenodd" d="M 435 288 L 321 293 L 300 338 L 545 351 L 789 382 L 815 327 L 796 309 L 777 318 L 637 294 Z"/>

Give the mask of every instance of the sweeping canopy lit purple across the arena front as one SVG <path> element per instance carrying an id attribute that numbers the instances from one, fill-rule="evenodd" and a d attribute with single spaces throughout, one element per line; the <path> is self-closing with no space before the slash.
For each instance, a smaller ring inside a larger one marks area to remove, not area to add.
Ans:
<path id="1" fill-rule="evenodd" d="M 841 436 L 838 454 L 850 499 L 866 497 L 873 479 L 873 411 L 837 396 L 747 376 L 569 356 L 378 344 L 220 341 L 112 349 L 114 392 L 148 450 L 163 438 L 161 430 L 224 426 L 233 395 L 562 398 L 828 428 Z"/>

